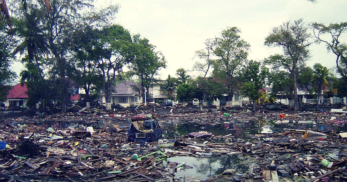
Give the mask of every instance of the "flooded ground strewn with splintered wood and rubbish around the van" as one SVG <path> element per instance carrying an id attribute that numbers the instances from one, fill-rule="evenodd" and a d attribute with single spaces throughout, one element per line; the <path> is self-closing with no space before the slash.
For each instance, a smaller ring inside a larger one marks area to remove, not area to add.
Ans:
<path id="1" fill-rule="evenodd" d="M 280 105 L 249 112 L 241 107 L 149 104 L 3 117 L 0 181 L 347 181 L 345 109 L 294 112 Z M 128 142 L 131 118 L 141 113 L 159 121 L 162 139 Z M 187 123 L 228 125 L 230 134 L 202 128 L 165 135 L 165 126 Z M 168 160 L 177 156 L 233 156 L 247 159 L 248 170 L 177 176 L 177 171 L 196 168 Z"/>

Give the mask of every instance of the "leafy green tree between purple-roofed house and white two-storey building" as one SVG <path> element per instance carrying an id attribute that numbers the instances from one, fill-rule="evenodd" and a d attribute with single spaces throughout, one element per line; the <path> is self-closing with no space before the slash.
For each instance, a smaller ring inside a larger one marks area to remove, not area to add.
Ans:
<path id="1" fill-rule="evenodd" d="M 158 76 L 161 68 L 166 68 L 166 61 L 161 52 L 156 52 L 155 46 L 149 43 L 148 39 L 141 39 L 140 35 L 134 35 L 133 54 L 134 59 L 130 68 L 140 79 L 142 97 L 145 103 L 145 90 L 149 90 L 154 84 L 154 79 Z"/>

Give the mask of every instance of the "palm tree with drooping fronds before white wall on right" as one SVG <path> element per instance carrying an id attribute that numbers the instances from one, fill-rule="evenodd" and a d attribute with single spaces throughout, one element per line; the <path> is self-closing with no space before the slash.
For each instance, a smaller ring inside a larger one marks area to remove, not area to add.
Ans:
<path id="1" fill-rule="evenodd" d="M 320 63 L 316 63 L 313 65 L 312 71 L 312 79 L 314 82 L 313 88 L 316 89 L 317 92 L 317 110 L 319 104 L 319 97 L 321 94 L 321 90 L 323 89 L 326 93 L 327 87 L 329 86 L 332 91 L 332 80 L 335 80 L 334 75 L 330 72 L 325 66 L 322 66 Z"/>

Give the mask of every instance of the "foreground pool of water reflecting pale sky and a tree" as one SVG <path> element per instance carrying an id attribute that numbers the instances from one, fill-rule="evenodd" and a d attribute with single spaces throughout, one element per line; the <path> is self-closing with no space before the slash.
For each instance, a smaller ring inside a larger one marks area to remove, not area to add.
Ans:
<path id="1" fill-rule="evenodd" d="M 238 173 L 245 173 L 249 169 L 250 161 L 242 155 L 225 155 L 218 157 L 171 157 L 168 161 L 177 163 L 185 162 L 186 165 L 193 166 L 192 169 L 177 171 L 176 176 L 200 176 L 222 174 L 226 169 L 235 169 Z"/>

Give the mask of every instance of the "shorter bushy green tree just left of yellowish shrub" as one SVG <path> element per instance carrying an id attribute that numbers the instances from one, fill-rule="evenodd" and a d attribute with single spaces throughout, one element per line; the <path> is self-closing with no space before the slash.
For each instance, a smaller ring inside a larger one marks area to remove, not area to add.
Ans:
<path id="1" fill-rule="evenodd" d="M 239 74 L 243 82 L 241 93 L 252 100 L 252 111 L 255 111 L 255 101 L 261 96 L 260 90 L 265 87 L 265 81 L 269 78 L 269 69 L 260 62 L 251 60 Z"/>

